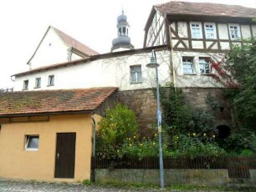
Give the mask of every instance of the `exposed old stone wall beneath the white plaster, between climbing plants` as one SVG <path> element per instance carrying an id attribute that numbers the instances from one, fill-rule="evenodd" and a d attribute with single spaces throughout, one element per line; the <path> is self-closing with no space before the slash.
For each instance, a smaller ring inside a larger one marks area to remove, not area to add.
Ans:
<path id="1" fill-rule="evenodd" d="M 213 99 L 217 99 L 223 107 L 223 111 L 213 111 L 215 115 L 214 124 L 226 125 L 230 127 L 230 104 L 223 97 L 221 88 L 182 88 L 187 104 L 192 107 L 206 108 L 205 99 L 210 93 Z M 156 98 L 152 89 L 137 89 L 129 91 L 119 91 L 117 99 L 121 104 L 126 104 L 136 114 L 136 119 L 140 126 L 141 134 L 149 134 L 148 129 L 156 128 Z"/>

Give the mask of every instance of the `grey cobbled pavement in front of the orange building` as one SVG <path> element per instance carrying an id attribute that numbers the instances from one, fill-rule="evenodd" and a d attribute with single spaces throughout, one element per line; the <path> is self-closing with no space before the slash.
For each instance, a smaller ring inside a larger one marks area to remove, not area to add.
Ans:
<path id="1" fill-rule="evenodd" d="M 37 181 L 0 179 L 0 192 L 125 192 L 158 191 L 158 189 L 118 189 L 84 184 L 48 183 Z"/>

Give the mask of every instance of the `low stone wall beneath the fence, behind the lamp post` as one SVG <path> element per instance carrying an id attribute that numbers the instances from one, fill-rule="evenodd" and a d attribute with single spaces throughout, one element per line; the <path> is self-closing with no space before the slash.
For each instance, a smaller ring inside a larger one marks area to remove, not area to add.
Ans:
<path id="1" fill-rule="evenodd" d="M 166 185 L 255 187 L 255 169 L 250 179 L 230 179 L 228 169 L 164 169 Z M 159 184 L 159 169 L 95 169 L 95 182 Z"/>

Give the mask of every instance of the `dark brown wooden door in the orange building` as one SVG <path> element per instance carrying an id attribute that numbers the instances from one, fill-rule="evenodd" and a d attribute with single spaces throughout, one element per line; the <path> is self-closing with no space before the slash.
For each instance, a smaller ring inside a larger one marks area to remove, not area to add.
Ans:
<path id="1" fill-rule="evenodd" d="M 55 178 L 74 178 L 75 133 L 57 134 Z"/>

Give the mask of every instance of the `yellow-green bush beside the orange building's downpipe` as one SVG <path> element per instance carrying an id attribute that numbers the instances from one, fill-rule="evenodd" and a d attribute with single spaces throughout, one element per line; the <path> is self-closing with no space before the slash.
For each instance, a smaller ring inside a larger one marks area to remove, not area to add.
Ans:
<path id="1" fill-rule="evenodd" d="M 138 131 L 136 116 L 127 106 L 116 104 L 108 109 L 100 121 L 96 133 L 96 151 L 105 157 L 113 157 L 125 143 L 126 138 L 134 138 Z"/>

